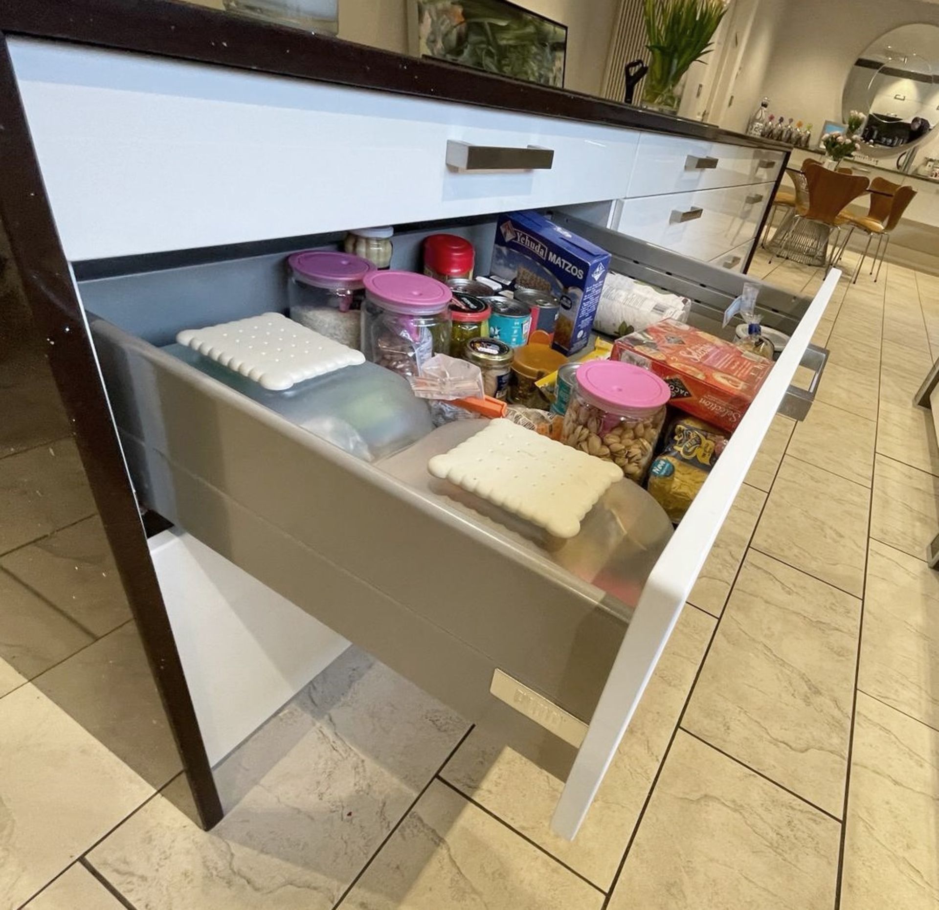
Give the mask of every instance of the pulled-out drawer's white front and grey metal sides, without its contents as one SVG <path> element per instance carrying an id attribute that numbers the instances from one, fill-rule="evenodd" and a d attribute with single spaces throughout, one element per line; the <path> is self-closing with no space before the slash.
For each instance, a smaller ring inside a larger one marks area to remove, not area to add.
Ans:
<path id="1" fill-rule="evenodd" d="M 692 297 L 692 321 L 708 331 L 746 281 L 555 218 L 605 246 L 613 270 Z M 485 270 L 494 224 L 399 233 L 393 264 L 415 267 L 423 234 L 448 229 L 475 241 Z M 764 324 L 792 341 L 668 544 L 644 542 L 637 527 L 628 571 L 640 575 L 615 585 L 408 476 L 401 455 L 387 465 L 347 455 L 161 348 L 182 328 L 284 310 L 283 253 L 131 270 L 80 289 L 142 503 L 537 753 L 566 776 L 554 826 L 573 837 L 773 415 L 808 405 L 810 393 L 787 391 L 836 281 L 814 301 L 764 288 Z"/>

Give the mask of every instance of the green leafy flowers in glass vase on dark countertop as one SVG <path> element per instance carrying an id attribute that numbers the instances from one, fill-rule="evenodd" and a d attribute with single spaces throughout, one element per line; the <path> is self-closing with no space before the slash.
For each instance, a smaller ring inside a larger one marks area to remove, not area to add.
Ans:
<path id="1" fill-rule="evenodd" d="M 724 18 L 724 0 L 644 0 L 649 72 L 642 103 L 677 114 L 688 67 L 712 50 L 711 39 Z"/>

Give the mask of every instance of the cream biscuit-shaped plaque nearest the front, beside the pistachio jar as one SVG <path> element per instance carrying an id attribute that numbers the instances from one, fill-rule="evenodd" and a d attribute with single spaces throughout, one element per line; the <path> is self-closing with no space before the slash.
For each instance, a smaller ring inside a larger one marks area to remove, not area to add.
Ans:
<path id="1" fill-rule="evenodd" d="M 449 480 L 556 537 L 575 537 L 580 522 L 623 471 L 601 458 L 494 420 L 475 436 L 427 462 Z"/>

